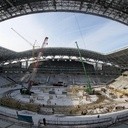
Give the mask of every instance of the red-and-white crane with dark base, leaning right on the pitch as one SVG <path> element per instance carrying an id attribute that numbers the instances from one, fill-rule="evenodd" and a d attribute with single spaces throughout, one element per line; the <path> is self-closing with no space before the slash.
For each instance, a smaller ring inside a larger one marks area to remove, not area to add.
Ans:
<path id="1" fill-rule="evenodd" d="M 29 78 L 29 81 L 28 81 L 28 87 L 27 88 L 25 88 L 25 87 L 21 88 L 20 89 L 21 94 L 31 95 L 32 93 L 34 93 L 34 92 L 31 92 L 31 88 L 34 84 L 34 79 L 35 79 L 35 76 L 36 76 L 36 73 L 37 73 L 37 70 L 38 70 L 40 57 L 43 55 L 44 47 L 48 44 L 47 41 L 48 41 L 48 37 L 45 37 L 45 39 L 42 43 L 42 46 L 41 46 L 41 50 L 38 53 L 35 65 L 33 67 L 33 71 L 30 75 L 30 78 Z"/>

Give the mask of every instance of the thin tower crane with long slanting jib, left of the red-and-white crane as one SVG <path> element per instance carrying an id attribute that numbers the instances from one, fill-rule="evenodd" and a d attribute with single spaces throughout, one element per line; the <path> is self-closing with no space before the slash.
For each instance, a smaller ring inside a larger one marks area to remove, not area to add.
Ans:
<path id="1" fill-rule="evenodd" d="M 25 37 L 23 37 L 19 32 L 17 32 L 15 29 L 11 28 L 18 36 L 20 36 L 23 40 L 25 40 L 29 45 L 32 46 L 32 57 L 34 58 L 34 50 L 35 50 L 35 47 L 39 47 L 39 46 L 36 46 L 36 40 L 34 42 L 34 44 L 32 44 L 30 41 L 28 41 Z"/>

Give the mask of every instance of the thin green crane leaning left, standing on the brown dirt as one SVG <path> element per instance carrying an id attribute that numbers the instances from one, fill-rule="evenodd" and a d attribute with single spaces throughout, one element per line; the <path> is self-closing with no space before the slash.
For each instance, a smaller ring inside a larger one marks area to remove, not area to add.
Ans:
<path id="1" fill-rule="evenodd" d="M 91 87 L 91 84 L 90 84 L 90 81 L 89 81 L 89 78 L 88 78 L 88 75 L 87 75 L 87 72 L 86 72 L 86 69 L 85 69 L 85 66 L 84 66 L 84 62 L 82 60 L 82 55 L 81 55 L 80 50 L 79 50 L 79 46 L 78 46 L 77 42 L 75 42 L 75 43 L 76 43 L 76 46 L 77 46 L 77 49 L 78 49 L 78 53 L 79 53 L 79 56 L 80 56 L 80 60 L 82 62 L 82 66 L 83 66 L 83 69 L 84 69 L 85 79 L 87 79 L 86 92 L 88 94 L 93 94 L 93 90 L 92 90 L 92 87 Z"/>

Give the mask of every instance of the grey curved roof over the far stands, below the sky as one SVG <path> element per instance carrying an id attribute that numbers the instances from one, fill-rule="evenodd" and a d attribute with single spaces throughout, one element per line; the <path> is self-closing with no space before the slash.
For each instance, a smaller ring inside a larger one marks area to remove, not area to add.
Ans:
<path id="1" fill-rule="evenodd" d="M 35 56 L 38 55 L 41 49 L 35 49 Z M 113 53 L 104 55 L 98 52 L 89 50 L 80 50 L 82 57 L 85 59 L 93 59 L 95 61 L 103 61 L 105 63 L 112 63 L 114 65 L 119 65 L 122 68 L 127 68 L 128 64 L 128 48 L 115 51 Z M 7 62 L 13 60 L 29 59 L 32 57 L 33 50 L 28 50 L 24 52 L 14 52 L 3 47 L 0 47 L 0 62 Z M 43 56 L 76 56 L 79 57 L 78 50 L 75 48 L 44 48 Z"/>

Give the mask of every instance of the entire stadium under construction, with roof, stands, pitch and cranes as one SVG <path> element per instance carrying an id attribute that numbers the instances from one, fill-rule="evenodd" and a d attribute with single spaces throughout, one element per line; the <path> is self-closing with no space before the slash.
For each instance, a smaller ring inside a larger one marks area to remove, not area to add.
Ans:
<path id="1" fill-rule="evenodd" d="M 48 1 L 3 1 L 0 21 L 45 9 L 66 11 L 66 6 L 67 11 L 128 24 L 124 0 Z M 128 48 L 101 54 L 79 49 L 77 42 L 76 48 L 46 48 L 47 41 L 48 37 L 34 50 L 34 57 L 33 50 L 15 52 L 0 47 L 2 128 L 115 128 L 121 123 L 127 127 Z"/>

